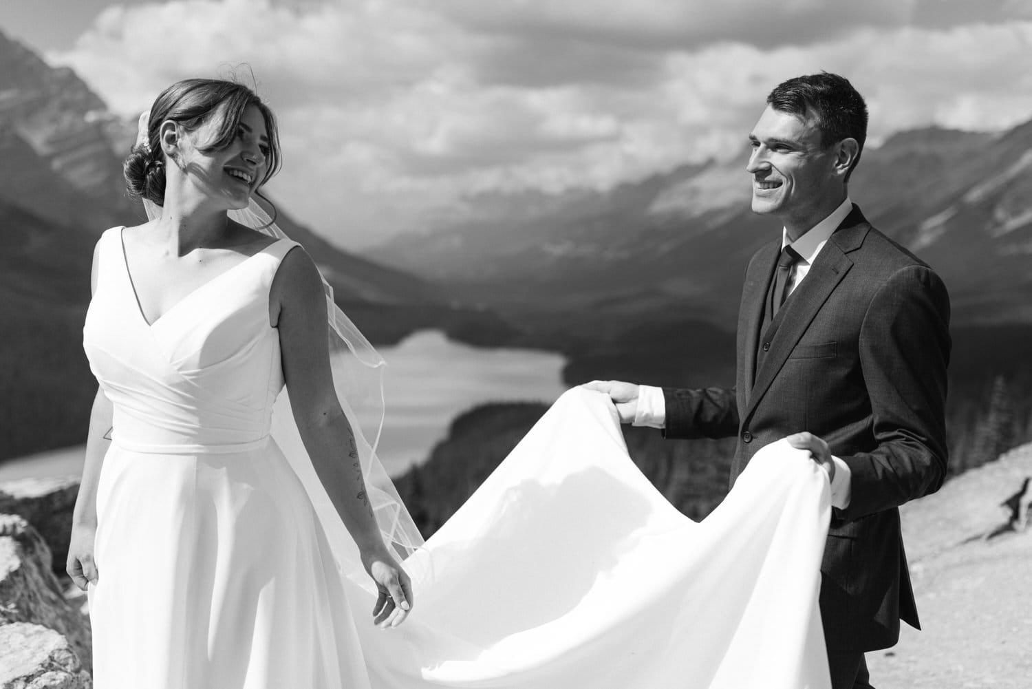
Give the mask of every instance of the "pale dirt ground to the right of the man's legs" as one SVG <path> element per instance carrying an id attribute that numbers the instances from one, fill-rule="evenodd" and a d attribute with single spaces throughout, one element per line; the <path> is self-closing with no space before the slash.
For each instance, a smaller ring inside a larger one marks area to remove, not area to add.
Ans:
<path id="1" fill-rule="evenodd" d="M 894 649 L 868 654 L 878 689 L 1032 688 L 1032 527 L 980 538 L 1025 476 L 1032 445 L 904 506 L 924 631 L 904 625 Z"/>

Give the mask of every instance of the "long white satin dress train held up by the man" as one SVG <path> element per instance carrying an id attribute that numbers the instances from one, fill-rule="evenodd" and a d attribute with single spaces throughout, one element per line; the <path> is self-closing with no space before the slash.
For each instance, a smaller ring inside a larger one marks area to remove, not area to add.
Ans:
<path id="1" fill-rule="evenodd" d="M 830 500 L 780 441 L 692 522 L 627 457 L 608 398 L 573 388 L 410 558 L 427 574 L 405 625 L 359 621 L 373 686 L 827 689 Z"/>

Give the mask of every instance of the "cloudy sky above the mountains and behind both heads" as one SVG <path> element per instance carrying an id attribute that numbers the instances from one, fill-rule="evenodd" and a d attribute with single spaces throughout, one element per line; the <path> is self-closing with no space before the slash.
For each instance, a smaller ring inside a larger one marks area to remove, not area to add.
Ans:
<path id="1" fill-rule="evenodd" d="M 1032 119 L 1027 0 L 2 0 L 0 29 L 127 117 L 179 79 L 254 84 L 284 149 L 269 194 L 353 250 L 481 194 L 741 155 L 803 73 L 852 82 L 872 146 Z"/>

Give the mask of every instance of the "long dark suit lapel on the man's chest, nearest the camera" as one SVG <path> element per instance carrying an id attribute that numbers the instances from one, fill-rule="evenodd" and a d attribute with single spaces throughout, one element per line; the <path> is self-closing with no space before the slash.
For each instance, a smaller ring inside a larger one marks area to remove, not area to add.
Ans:
<path id="1" fill-rule="evenodd" d="M 817 254 L 816 260 L 810 267 L 810 272 L 800 283 L 788 301 L 778 311 L 774 322 L 768 327 L 776 327 L 776 336 L 771 340 L 771 348 L 764 358 L 763 366 L 755 374 L 755 383 L 749 395 L 748 407 L 744 418 L 748 418 L 756 408 L 760 400 L 770 388 L 778 372 L 784 366 L 792 350 L 806 333 L 820 307 L 852 268 L 848 253 L 859 248 L 867 236 L 870 225 L 864 219 L 860 209 L 853 206 L 852 212 L 846 216 L 839 228 L 832 233 L 825 248 Z M 763 297 L 759 300 L 763 308 Z M 760 311 L 756 311 L 760 314 Z M 755 345 L 759 343 L 759 328 L 751 339 L 752 349 L 747 352 L 751 362 L 755 362 Z M 753 364 L 754 366 L 754 364 Z"/>

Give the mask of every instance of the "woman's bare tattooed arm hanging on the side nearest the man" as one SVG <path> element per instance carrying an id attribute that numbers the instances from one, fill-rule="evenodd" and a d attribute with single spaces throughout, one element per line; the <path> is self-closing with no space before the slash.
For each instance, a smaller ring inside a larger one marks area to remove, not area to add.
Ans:
<path id="1" fill-rule="evenodd" d="M 289 251 L 277 271 L 269 322 L 280 331 L 284 380 L 304 448 L 377 584 L 375 621 L 396 626 L 411 607 L 411 585 L 384 544 L 365 493 L 355 435 L 333 389 L 322 280 L 300 248 Z"/>

